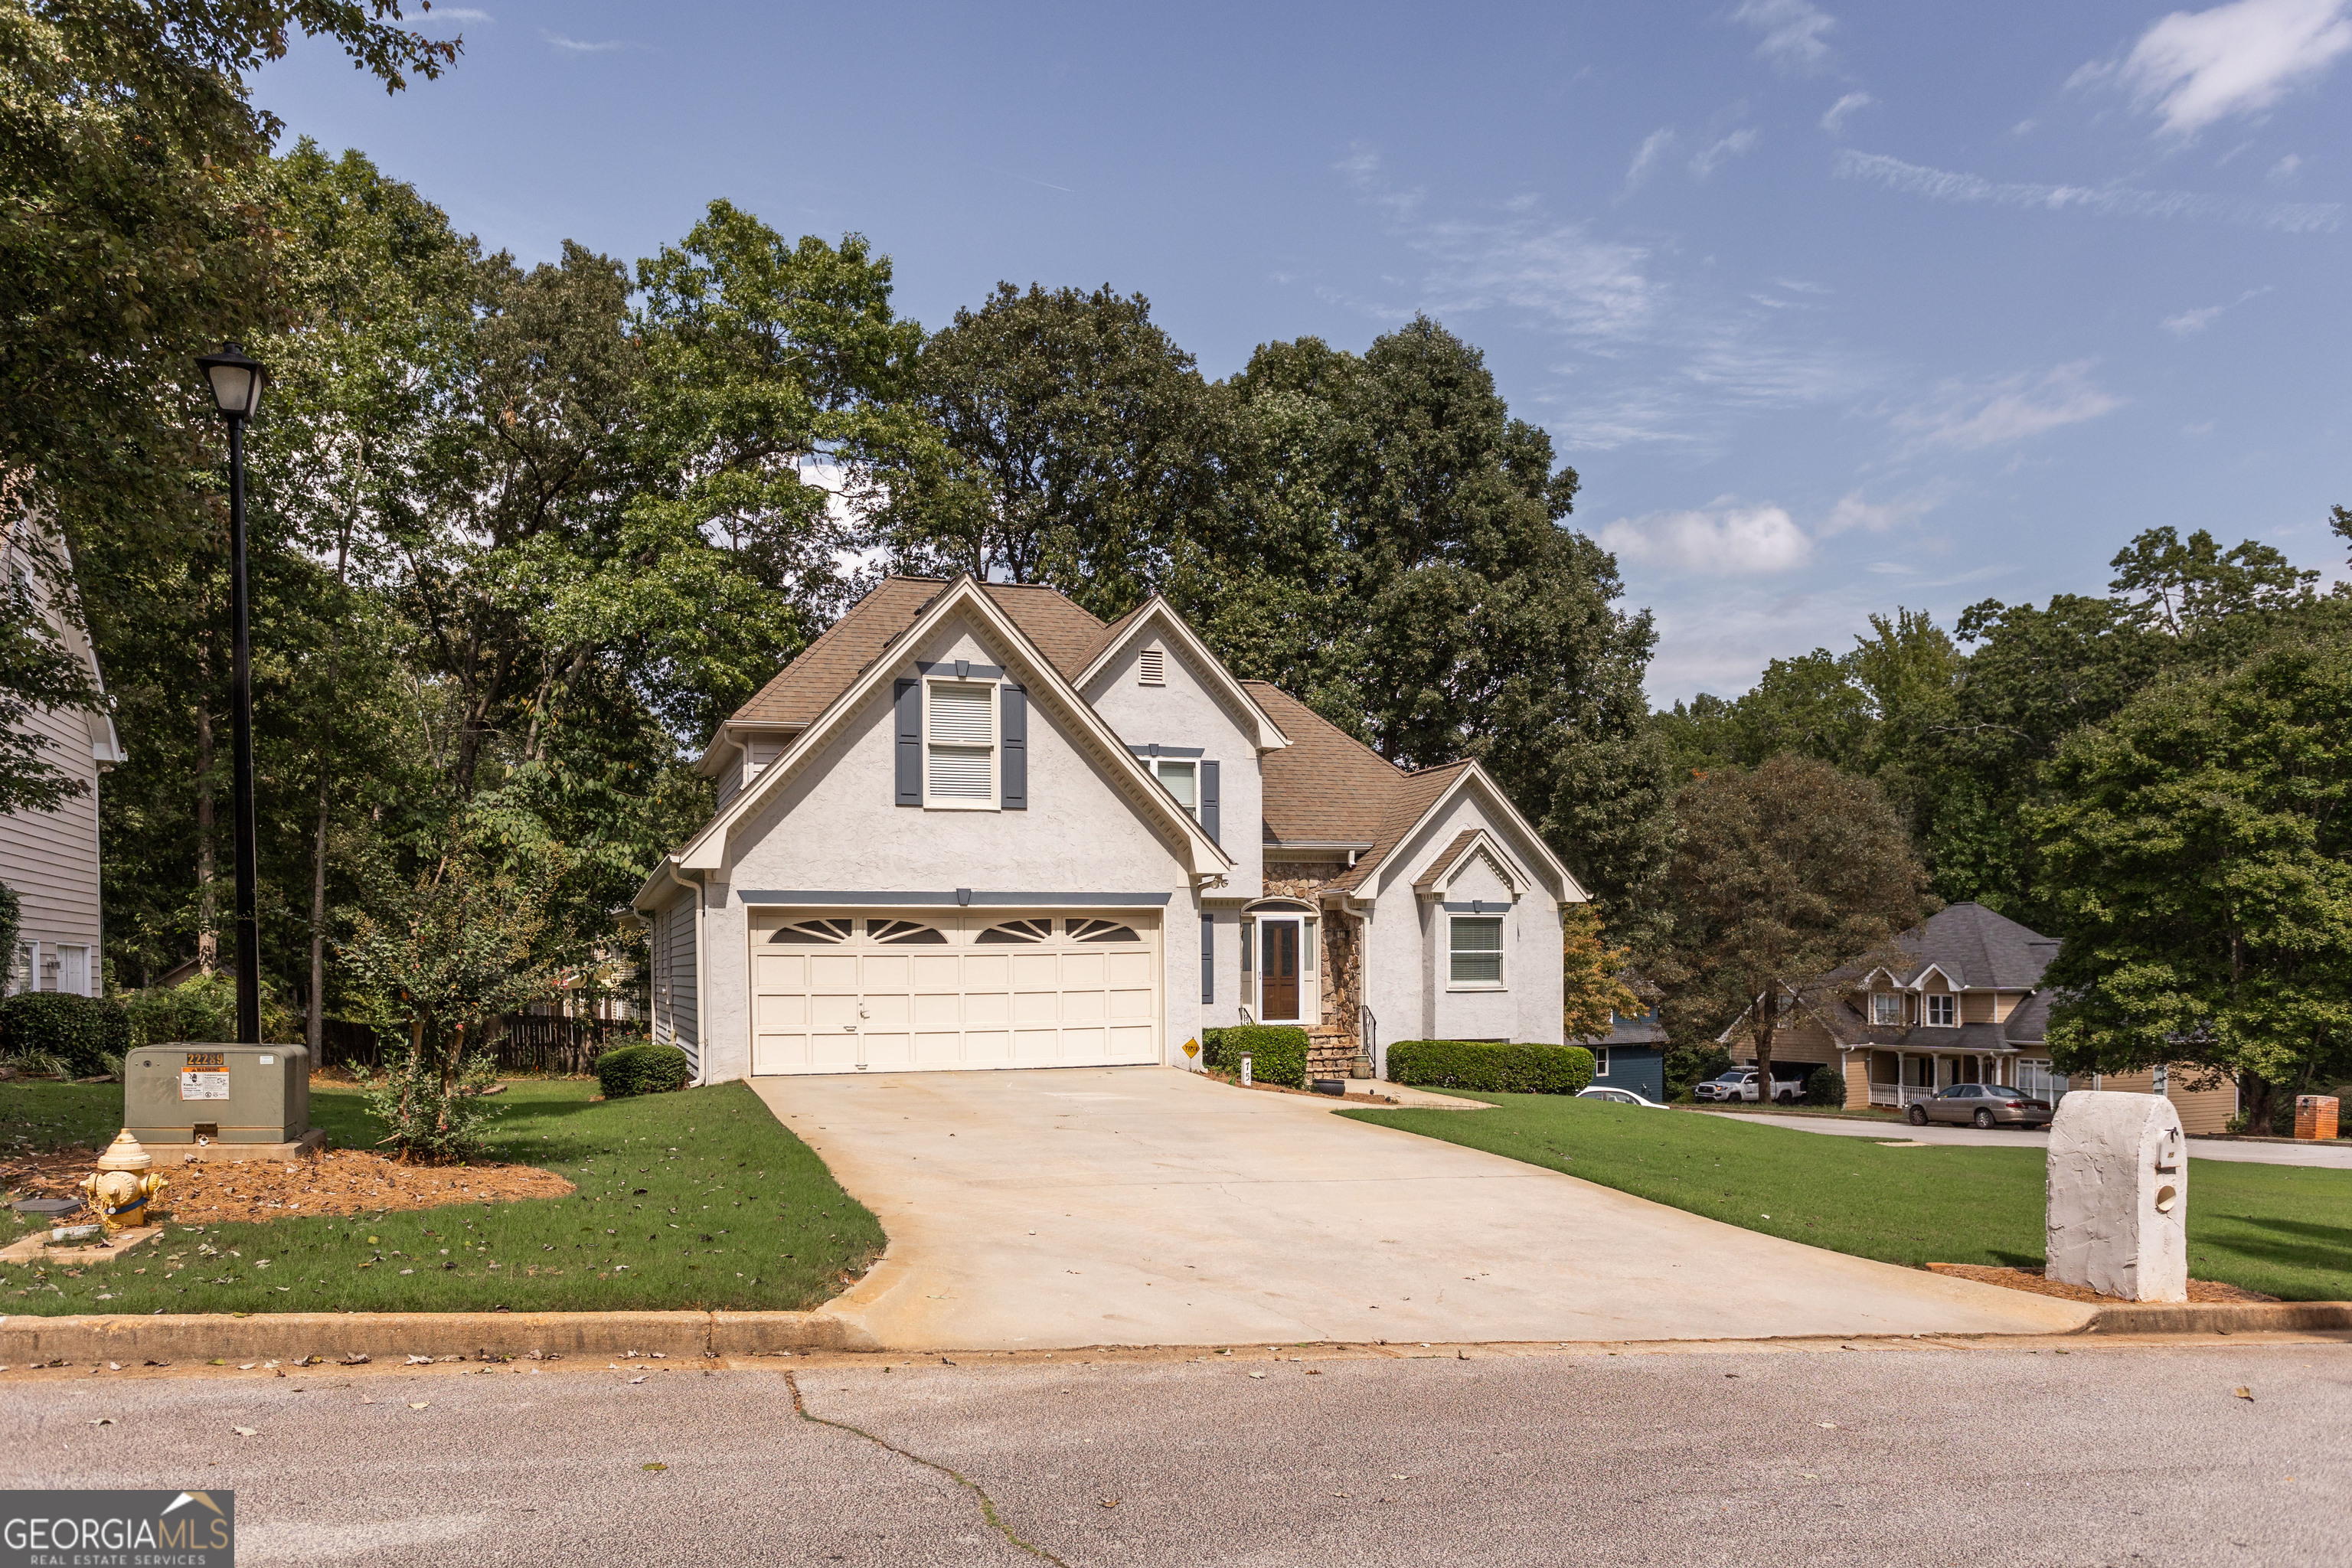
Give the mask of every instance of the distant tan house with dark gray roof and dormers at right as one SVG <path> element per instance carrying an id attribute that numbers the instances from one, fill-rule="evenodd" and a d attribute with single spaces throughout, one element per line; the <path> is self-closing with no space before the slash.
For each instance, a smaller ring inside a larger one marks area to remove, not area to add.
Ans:
<path id="1" fill-rule="evenodd" d="M 2013 1084 L 2056 1100 L 2070 1079 L 2051 1070 L 2051 997 L 2042 973 L 2058 938 L 2027 931 L 1980 903 L 1955 903 L 1893 940 L 1898 961 L 1849 966 L 1790 990 L 1792 1020 L 1773 1037 L 1783 1067 L 1837 1067 L 1846 1105 L 1900 1110 L 1952 1084 Z M 1755 1063 L 1743 1020 L 1719 1037 L 1736 1060 Z M 2190 1133 L 2223 1133 L 2237 1114 L 2237 1086 L 2197 1086 L 2192 1067 L 2096 1074 L 2079 1088 L 2164 1093 Z"/>

